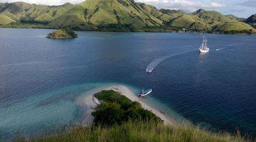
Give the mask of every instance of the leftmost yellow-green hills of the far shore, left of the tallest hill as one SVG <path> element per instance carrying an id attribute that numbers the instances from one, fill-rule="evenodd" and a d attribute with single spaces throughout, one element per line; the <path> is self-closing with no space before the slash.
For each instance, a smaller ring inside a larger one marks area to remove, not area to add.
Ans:
<path id="1" fill-rule="evenodd" d="M 55 18 L 73 8 L 73 4 L 67 3 L 61 6 L 43 6 L 27 4 L 24 2 L 1 3 L 0 24 L 11 22 L 50 23 Z"/>

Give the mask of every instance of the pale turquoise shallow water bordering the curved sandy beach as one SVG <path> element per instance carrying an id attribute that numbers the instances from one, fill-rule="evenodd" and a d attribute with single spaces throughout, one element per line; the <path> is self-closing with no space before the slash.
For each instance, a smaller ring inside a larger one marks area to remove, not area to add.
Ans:
<path id="1" fill-rule="evenodd" d="M 9 102 L 8 106 L 0 109 L 1 136 L 9 139 L 11 136 L 17 136 L 22 133 L 25 136 L 41 135 L 50 131 L 60 131 L 67 124 L 81 124 L 82 109 L 77 104 L 80 97 L 95 92 L 95 90 L 112 86 L 117 83 L 88 83 L 75 84 L 69 87 L 50 90 L 40 94 L 33 94 L 29 97 L 18 100 L 18 102 Z M 133 92 L 139 92 L 139 89 L 129 87 Z M 176 120 L 185 120 L 173 110 L 165 107 L 152 97 L 145 99 L 154 107 L 161 108 L 174 116 Z M 63 127 L 64 126 L 64 127 Z"/>

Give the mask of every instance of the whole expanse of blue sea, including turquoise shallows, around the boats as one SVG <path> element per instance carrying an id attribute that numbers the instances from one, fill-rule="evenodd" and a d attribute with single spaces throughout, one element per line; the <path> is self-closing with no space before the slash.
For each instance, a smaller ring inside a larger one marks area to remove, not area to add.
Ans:
<path id="1" fill-rule="evenodd" d="M 255 136 L 256 36 L 206 34 L 211 50 L 200 55 L 200 34 L 50 32 L 0 28 L 1 138 L 77 121 L 76 98 L 116 83 L 150 87 L 146 101 L 179 121 Z"/>

